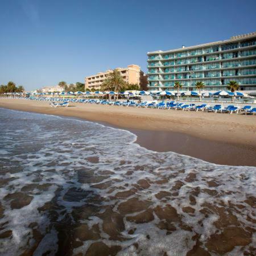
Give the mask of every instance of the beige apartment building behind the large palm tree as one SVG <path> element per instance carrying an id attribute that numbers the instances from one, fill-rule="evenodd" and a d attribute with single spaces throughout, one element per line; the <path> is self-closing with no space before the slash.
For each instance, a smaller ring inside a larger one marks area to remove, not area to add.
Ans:
<path id="1" fill-rule="evenodd" d="M 123 79 L 129 84 L 138 84 L 141 89 L 147 89 L 147 76 L 141 71 L 138 65 L 128 65 L 127 68 L 117 68 Z M 100 72 L 93 76 L 85 77 L 85 89 L 100 90 L 102 82 L 108 77 L 113 70 Z"/>

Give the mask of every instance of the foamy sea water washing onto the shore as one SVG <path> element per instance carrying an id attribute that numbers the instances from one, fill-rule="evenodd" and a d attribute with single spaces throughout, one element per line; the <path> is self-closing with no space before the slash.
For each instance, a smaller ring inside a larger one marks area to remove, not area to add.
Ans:
<path id="1" fill-rule="evenodd" d="M 255 167 L 0 109 L 1 255 L 253 255 Z M 195 148 L 196 150 L 196 148 Z"/>

